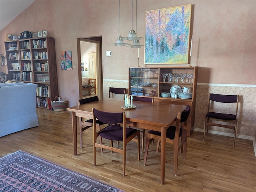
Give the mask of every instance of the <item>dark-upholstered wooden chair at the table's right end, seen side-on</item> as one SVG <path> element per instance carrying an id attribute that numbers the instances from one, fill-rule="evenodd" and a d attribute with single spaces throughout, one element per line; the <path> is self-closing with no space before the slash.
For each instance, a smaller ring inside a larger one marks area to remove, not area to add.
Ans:
<path id="1" fill-rule="evenodd" d="M 184 122 L 184 127 L 187 126 L 187 119 L 190 114 L 190 106 L 186 107 L 186 110 L 183 112 L 179 112 L 176 118 L 176 126 L 170 126 L 166 130 L 166 143 L 171 143 L 174 147 L 174 175 L 177 176 L 178 174 L 178 153 L 181 151 L 183 152 L 184 147 L 184 159 L 186 159 L 187 155 L 187 130 L 182 128 L 182 123 Z M 161 141 L 161 132 L 158 131 L 148 131 L 147 138 L 146 138 L 146 150 L 145 150 L 145 157 L 144 157 L 144 166 L 147 163 L 148 157 L 148 147 L 154 139 L 158 139 Z M 179 142 L 180 141 L 180 142 Z M 157 143 L 157 151 L 159 149 L 160 142 Z"/>

